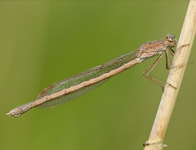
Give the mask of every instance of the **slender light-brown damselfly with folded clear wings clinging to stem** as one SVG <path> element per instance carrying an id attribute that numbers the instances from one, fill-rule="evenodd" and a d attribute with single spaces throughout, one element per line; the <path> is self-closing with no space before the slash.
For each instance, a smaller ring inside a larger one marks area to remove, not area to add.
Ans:
<path id="1" fill-rule="evenodd" d="M 146 42 L 140 45 L 139 48 L 135 51 L 119 56 L 103 65 L 96 66 L 87 71 L 81 72 L 77 75 L 71 76 L 48 86 L 38 95 L 35 101 L 18 106 L 6 115 L 18 117 L 37 106 L 52 107 L 72 100 L 92 91 L 94 88 L 98 87 L 112 76 L 117 75 L 120 72 L 157 55 L 159 55 L 157 60 L 143 72 L 143 75 L 159 85 L 157 82 L 162 81 L 149 77 L 149 74 L 160 61 L 163 53 L 166 54 L 166 68 L 171 68 L 168 51 L 173 56 L 175 51 L 172 48 L 176 47 L 176 43 L 177 41 L 175 37 L 171 34 L 166 35 L 164 40 Z M 175 88 L 173 85 L 169 85 Z"/>

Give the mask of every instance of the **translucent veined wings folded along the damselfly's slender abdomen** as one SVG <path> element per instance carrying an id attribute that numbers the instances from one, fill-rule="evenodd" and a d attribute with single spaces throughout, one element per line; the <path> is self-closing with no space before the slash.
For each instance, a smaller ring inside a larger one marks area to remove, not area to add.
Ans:
<path id="1" fill-rule="evenodd" d="M 45 88 L 37 97 L 37 99 L 40 99 L 46 95 L 50 95 L 52 93 L 58 92 L 62 89 L 67 89 L 71 86 L 77 85 L 83 81 L 88 81 L 92 78 L 98 77 L 100 75 L 102 75 L 103 73 L 107 73 L 110 72 L 113 69 L 116 69 L 122 65 L 124 65 L 125 63 L 129 62 L 130 60 L 135 58 L 135 54 L 137 53 L 136 51 L 133 52 L 129 52 L 127 54 L 124 54 L 122 56 L 119 56 L 103 65 L 99 65 L 96 66 L 94 68 L 91 68 L 87 71 L 81 72 L 77 75 L 71 76 L 69 78 L 66 78 L 60 82 L 54 83 L 52 85 L 50 85 L 49 87 Z M 48 107 L 53 107 L 56 105 L 59 105 L 63 102 L 72 100 L 76 97 L 79 97 L 85 93 L 88 93 L 90 91 L 92 91 L 94 88 L 98 87 L 99 85 L 101 85 L 102 83 L 104 83 L 107 79 L 100 81 L 96 84 L 90 85 L 88 87 L 84 87 L 83 89 L 64 95 L 60 98 L 56 98 L 53 99 L 52 101 L 48 101 L 42 105 L 40 105 L 39 107 L 42 108 L 48 108 Z"/>

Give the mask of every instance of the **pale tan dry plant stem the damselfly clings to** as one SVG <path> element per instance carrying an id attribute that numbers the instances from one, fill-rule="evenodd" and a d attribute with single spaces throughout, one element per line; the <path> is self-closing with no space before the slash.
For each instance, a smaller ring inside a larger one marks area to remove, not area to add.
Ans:
<path id="1" fill-rule="evenodd" d="M 187 64 L 191 47 L 194 41 L 196 31 L 196 1 L 191 0 L 188 6 L 185 21 L 182 27 L 178 47 L 184 44 L 189 44 L 178 50 L 174 56 L 173 66 L 182 66 Z M 161 99 L 161 103 L 158 108 L 158 112 L 152 127 L 152 131 L 144 150 L 162 150 L 164 145 L 163 138 L 172 114 L 173 107 L 175 105 L 176 97 L 180 89 L 182 78 L 184 75 L 186 65 L 179 68 L 173 68 L 170 70 L 167 83 L 170 83 L 177 87 L 177 89 L 166 85 Z"/>

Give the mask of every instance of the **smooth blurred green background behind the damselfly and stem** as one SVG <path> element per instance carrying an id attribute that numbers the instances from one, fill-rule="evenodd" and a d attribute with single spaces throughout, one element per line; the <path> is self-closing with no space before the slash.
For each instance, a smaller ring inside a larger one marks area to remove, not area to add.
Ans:
<path id="1" fill-rule="evenodd" d="M 178 39 L 188 1 L 1 1 L 0 147 L 2 150 L 143 149 L 162 90 L 142 76 L 152 58 L 93 92 L 52 109 L 5 116 L 48 85 L 135 50 Z M 196 44 L 164 143 L 195 149 Z M 165 58 L 152 76 L 163 81 Z"/>

